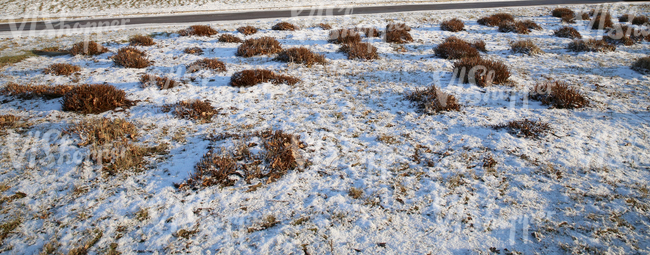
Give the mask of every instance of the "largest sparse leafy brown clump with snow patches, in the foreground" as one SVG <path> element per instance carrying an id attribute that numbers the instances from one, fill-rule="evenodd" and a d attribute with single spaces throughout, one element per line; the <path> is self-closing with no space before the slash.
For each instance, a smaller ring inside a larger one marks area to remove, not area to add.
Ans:
<path id="1" fill-rule="evenodd" d="M 211 137 L 214 142 L 226 139 L 231 139 L 235 147 L 211 149 L 195 166 L 194 173 L 175 186 L 187 190 L 232 186 L 238 181 L 271 183 L 305 163 L 300 154 L 304 148 L 300 137 L 281 130 Z"/>

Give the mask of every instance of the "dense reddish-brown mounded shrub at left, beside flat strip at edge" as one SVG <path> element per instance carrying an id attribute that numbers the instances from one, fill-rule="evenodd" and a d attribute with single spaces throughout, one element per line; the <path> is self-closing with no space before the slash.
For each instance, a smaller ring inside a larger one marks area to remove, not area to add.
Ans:
<path id="1" fill-rule="evenodd" d="M 82 114 L 97 114 L 118 107 L 130 107 L 134 102 L 126 93 L 109 84 L 83 84 L 63 96 L 63 110 Z"/>

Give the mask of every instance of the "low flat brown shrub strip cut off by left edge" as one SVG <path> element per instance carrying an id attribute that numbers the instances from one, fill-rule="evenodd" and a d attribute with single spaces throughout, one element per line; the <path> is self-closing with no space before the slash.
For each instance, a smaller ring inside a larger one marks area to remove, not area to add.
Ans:
<path id="1" fill-rule="evenodd" d="M 74 85 L 18 85 L 16 83 L 9 83 L 0 90 L 1 95 L 14 96 L 20 99 L 54 99 L 65 95 L 71 91 Z"/>

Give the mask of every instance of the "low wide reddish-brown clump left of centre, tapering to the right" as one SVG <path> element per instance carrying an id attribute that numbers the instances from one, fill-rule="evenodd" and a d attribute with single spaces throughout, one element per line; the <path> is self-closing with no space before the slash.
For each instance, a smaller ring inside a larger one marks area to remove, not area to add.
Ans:
<path id="1" fill-rule="evenodd" d="M 233 87 L 250 87 L 264 82 L 294 85 L 300 82 L 300 79 L 293 76 L 276 74 L 273 71 L 265 69 L 236 72 L 230 78 L 230 85 Z"/>

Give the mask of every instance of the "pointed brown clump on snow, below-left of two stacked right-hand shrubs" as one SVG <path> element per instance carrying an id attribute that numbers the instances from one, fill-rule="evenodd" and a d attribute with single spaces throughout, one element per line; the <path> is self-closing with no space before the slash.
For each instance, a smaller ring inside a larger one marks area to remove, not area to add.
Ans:
<path id="1" fill-rule="evenodd" d="M 436 114 L 447 111 L 460 111 L 456 97 L 440 90 L 435 85 L 408 94 L 406 99 L 417 104 L 420 111 L 426 114 Z"/>

